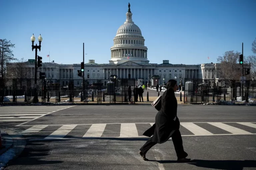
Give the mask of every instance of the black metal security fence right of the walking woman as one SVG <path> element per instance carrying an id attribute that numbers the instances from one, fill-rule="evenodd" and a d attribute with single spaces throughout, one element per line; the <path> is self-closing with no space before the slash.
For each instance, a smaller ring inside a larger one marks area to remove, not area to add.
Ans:
<path id="1" fill-rule="evenodd" d="M 255 102 L 256 82 L 246 80 L 185 79 L 184 103 Z"/>

